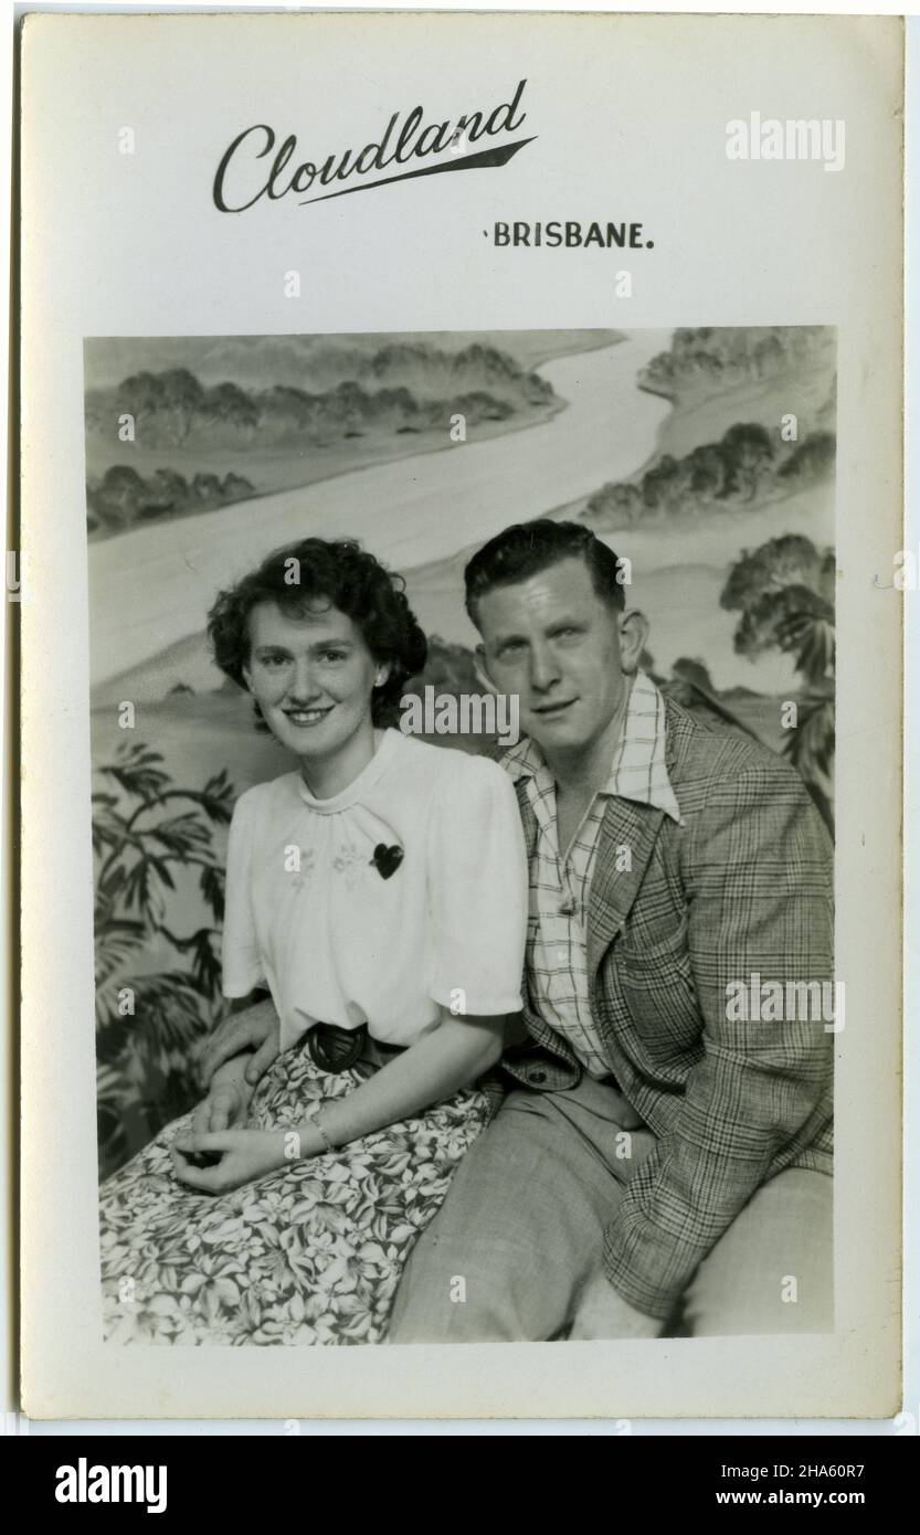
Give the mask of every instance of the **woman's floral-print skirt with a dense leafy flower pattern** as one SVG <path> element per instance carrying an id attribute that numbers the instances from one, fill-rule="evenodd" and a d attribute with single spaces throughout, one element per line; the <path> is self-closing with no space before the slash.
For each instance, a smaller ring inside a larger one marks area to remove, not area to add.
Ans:
<path id="1" fill-rule="evenodd" d="M 249 1124 L 289 1130 L 373 1071 L 329 1074 L 306 1044 L 263 1076 Z M 169 1147 L 192 1114 L 100 1188 L 104 1335 L 112 1343 L 379 1343 L 402 1266 L 488 1121 L 467 1088 L 256 1183 L 201 1194 Z"/>

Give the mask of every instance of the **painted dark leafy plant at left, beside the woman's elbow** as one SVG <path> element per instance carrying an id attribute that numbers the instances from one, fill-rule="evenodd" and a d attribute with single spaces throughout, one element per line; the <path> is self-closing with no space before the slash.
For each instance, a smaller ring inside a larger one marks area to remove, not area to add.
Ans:
<path id="1" fill-rule="evenodd" d="M 149 746 L 123 744 L 100 769 L 112 787 L 92 795 L 103 1176 L 197 1099 L 195 1047 L 223 1013 L 213 829 L 229 823 L 235 794 L 226 771 L 180 789 L 161 764 Z M 197 886 L 209 916 L 187 933 L 170 921 L 177 881 Z"/>

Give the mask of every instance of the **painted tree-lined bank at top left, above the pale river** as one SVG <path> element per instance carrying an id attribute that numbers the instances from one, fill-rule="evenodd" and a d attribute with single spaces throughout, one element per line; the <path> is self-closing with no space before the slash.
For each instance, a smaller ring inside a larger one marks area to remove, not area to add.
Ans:
<path id="1" fill-rule="evenodd" d="M 553 355 L 553 338 L 565 353 L 610 344 L 610 333 L 536 335 L 539 345 L 515 350 L 447 335 L 439 345 L 419 336 L 88 341 L 88 533 L 95 540 L 442 448 L 456 416 L 481 441 L 536 425 L 565 405 L 534 371 L 541 353 Z M 131 345 L 141 361 L 178 361 L 184 345 L 186 361 L 94 382 Z M 213 381 L 218 364 L 227 371 Z"/>

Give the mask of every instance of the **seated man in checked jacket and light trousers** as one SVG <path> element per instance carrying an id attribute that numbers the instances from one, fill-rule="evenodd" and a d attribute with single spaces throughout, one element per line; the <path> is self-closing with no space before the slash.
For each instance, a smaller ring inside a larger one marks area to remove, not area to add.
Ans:
<path id="1" fill-rule="evenodd" d="M 825 826 L 780 758 L 639 671 L 645 619 L 587 528 L 508 528 L 465 580 L 479 665 L 527 732 L 502 757 L 530 857 L 527 1038 L 390 1340 L 826 1329 Z"/>

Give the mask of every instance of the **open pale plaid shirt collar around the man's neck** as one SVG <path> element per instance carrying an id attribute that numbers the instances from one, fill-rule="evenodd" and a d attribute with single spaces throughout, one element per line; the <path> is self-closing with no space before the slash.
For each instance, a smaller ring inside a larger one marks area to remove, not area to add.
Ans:
<path id="1" fill-rule="evenodd" d="M 533 778 L 534 787 L 544 789 L 553 781 L 542 751 L 527 735 L 518 746 L 510 748 L 501 761 L 515 783 Z M 683 826 L 680 806 L 665 766 L 665 700 L 645 672 L 636 672 L 633 680 L 610 778 L 599 789 L 599 794 L 651 804 Z"/>

